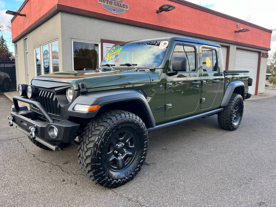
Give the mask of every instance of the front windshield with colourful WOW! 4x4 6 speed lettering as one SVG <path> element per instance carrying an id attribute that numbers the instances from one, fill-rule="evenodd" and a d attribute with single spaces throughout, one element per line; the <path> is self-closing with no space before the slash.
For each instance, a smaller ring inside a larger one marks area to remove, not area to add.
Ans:
<path id="1" fill-rule="evenodd" d="M 137 64 L 136 67 L 158 67 L 165 56 L 169 41 L 150 41 L 117 45 L 110 49 L 101 66 Z"/>

